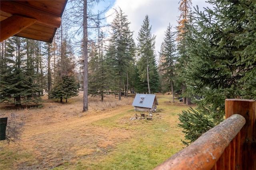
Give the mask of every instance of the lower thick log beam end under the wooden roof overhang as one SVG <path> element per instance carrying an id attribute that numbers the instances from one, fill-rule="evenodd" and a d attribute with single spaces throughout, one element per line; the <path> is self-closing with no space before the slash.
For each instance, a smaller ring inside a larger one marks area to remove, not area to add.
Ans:
<path id="1" fill-rule="evenodd" d="M 1 7 L 2 8 L 2 7 Z M 19 33 L 23 29 L 35 23 L 37 20 L 34 18 L 28 18 L 24 16 L 13 15 L 0 22 L 0 42 L 4 41 L 8 37 Z M 8 25 L 8 26 L 7 26 Z"/>

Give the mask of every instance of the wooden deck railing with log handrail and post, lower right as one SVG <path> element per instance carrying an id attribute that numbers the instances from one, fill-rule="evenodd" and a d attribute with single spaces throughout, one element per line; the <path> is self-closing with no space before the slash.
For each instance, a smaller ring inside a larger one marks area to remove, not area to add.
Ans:
<path id="1" fill-rule="evenodd" d="M 154 170 L 256 170 L 256 101 L 225 100 L 226 119 Z"/>

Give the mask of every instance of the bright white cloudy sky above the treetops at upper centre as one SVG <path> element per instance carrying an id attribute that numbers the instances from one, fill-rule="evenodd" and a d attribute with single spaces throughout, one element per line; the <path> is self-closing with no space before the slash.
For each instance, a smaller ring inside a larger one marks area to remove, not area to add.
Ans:
<path id="1" fill-rule="evenodd" d="M 156 35 L 156 54 L 160 51 L 160 46 L 164 38 L 164 31 L 166 31 L 169 23 L 172 25 L 172 31 L 176 31 L 178 16 L 179 0 L 105 0 L 100 6 L 108 6 L 121 10 L 127 15 L 130 21 L 130 30 L 134 31 L 134 41 L 137 43 L 138 31 L 140 30 L 145 16 L 148 15 L 150 25 L 152 25 L 152 34 Z M 193 6 L 198 5 L 199 10 L 203 7 L 210 7 L 205 0 L 192 0 Z M 97 7 L 96 7 L 97 8 Z M 110 9 L 111 10 L 111 9 Z M 107 22 L 112 19 L 108 18 Z"/>

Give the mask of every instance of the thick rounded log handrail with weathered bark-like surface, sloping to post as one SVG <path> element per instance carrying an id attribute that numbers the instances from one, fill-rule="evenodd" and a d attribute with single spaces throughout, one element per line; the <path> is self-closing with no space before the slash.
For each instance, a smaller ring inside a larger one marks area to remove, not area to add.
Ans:
<path id="1" fill-rule="evenodd" d="M 154 170 L 211 169 L 244 124 L 241 115 L 229 117 Z"/>

